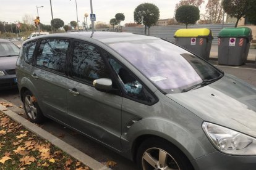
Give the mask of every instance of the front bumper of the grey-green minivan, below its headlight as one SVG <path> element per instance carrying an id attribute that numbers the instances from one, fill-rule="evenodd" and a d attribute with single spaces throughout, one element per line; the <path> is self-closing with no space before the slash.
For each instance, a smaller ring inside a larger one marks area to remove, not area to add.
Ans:
<path id="1" fill-rule="evenodd" d="M 191 163 L 193 164 L 195 169 L 250 170 L 256 168 L 256 156 L 231 156 L 223 154 L 221 152 L 213 152 L 197 158 Z"/>

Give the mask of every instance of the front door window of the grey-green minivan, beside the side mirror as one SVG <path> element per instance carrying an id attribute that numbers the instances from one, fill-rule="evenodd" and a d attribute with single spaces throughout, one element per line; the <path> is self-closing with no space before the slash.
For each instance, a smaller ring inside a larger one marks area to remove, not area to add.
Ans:
<path id="1" fill-rule="evenodd" d="M 109 71 L 99 49 L 85 42 L 74 42 L 72 76 L 92 83 L 98 78 L 109 78 Z"/>

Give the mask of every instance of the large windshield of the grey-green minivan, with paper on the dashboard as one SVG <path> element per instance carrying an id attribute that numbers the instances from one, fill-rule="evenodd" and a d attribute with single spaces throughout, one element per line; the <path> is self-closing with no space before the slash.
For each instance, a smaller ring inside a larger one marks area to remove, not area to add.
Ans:
<path id="1" fill-rule="evenodd" d="M 216 81 L 222 75 L 200 57 L 162 39 L 110 42 L 108 45 L 165 94 L 186 92 L 205 81 Z"/>

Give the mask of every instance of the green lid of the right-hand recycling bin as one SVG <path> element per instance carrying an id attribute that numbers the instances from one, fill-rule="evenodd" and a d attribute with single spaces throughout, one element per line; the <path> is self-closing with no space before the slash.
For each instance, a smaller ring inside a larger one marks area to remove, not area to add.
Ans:
<path id="1" fill-rule="evenodd" d="M 247 37 L 252 36 L 252 30 L 247 27 L 223 28 L 218 37 Z"/>

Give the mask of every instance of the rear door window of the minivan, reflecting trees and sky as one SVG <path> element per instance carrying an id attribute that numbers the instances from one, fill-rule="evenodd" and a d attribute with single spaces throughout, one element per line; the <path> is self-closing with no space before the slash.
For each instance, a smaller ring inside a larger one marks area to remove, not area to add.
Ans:
<path id="1" fill-rule="evenodd" d="M 68 48 L 67 39 L 43 39 L 36 57 L 36 65 L 64 73 Z"/>

